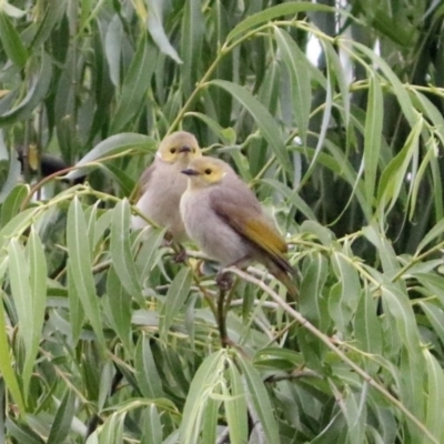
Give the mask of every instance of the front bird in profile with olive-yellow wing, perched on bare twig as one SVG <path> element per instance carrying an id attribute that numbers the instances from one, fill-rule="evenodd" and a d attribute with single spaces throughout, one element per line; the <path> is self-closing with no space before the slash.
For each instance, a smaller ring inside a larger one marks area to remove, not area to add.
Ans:
<path id="1" fill-rule="evenodd" d="M 222 268 L 262 263 L 296 300 L 285 240 L 246 183 L 226 162 L 211 157 L 193 159 L 182 173 L 188 188 L 180 212 L 189 238 Z"/>

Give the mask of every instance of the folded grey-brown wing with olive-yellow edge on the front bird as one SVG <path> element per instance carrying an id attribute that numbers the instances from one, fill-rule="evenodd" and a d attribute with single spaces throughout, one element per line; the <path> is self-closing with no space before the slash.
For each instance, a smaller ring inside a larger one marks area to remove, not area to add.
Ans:
<path id="1" fill-rule="evenodd" d="M 244 190 L 218 191 L 211 193 L 210 204 L 219 218 L 243 238 L 265 251 L 283 270 L 293 273 L 294 270 L 284 255 L 287 251 L 286 243 L 263 214 L 256 199 L 242 192 Z"/>

